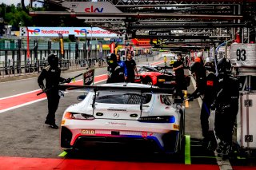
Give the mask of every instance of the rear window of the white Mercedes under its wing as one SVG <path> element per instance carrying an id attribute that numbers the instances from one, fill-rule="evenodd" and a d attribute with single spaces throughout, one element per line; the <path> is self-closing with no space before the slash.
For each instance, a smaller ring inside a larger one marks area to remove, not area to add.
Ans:
<path id="1" fill-rule="evenodd" d="M 151 101 L 151 94 L 138 94 L 138 93 L 98 93 L 96 97 L 97 103 L 108 104 L 124 104 L 124 105 L 140 105 L 149 103 Z"/>

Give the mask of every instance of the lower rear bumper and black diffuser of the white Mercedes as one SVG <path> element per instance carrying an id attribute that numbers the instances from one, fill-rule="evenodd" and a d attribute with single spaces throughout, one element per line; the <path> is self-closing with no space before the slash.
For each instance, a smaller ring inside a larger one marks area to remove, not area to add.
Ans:
<path id="1" fill-rule="evenodd" d="M 61 147 L 63 149 L 120 148 L 128 151 L 176 152 L 178 131 L 166 133 L 111 131 L 111 134 L 84 135 L 81 129 L 70 130 L 62 126 Z M 106 131 L 106 130 L 102 130 Z M 114 133 L 113 133 L 114 132 Z M 130 134 L 129 134 L 130 133 Z M 71 135 L 70 135 L 71 134 Z"/>

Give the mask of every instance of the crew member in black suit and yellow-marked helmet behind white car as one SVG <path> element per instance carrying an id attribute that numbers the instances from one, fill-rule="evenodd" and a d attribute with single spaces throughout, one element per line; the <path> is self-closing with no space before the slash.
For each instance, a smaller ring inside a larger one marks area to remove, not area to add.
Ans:
<path id="1" fill-rule="evenodd" d="M 120 65 L 118 65 L 117 57 L 114 53 L 110 53 L 106 57 L 106 63 L 109 65 L 108 70 L 108 78 L 106 83 L 118 83 L 124 82 L 124 70 Z"/>

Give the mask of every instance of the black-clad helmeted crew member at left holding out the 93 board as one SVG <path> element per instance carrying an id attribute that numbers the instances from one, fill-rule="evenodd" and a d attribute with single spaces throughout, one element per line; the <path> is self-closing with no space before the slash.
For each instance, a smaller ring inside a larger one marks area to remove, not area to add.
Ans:
<path id="1" fill-rule="evenodd" d="M 61 83 L 70 83 L 71 79 L 65 79 L 61 77 L 61 69 L 58 68 L 58 57 L 54 53 L 50 53 L 47 57 L 48 66 L 42 69 L 38 77 L 38 85 L 42 91 L 46 92 L 48 100 L 48 114 L 46 117 L 45 124 L 50 125 L 50 128 L 58 128 L 58 125 L 55 124 L 55 113 L 58 109 L 59 103 L 59 92 L 58 84 Z M 46 80 L 46 86 L 43 83 L 43 80 Z"/>

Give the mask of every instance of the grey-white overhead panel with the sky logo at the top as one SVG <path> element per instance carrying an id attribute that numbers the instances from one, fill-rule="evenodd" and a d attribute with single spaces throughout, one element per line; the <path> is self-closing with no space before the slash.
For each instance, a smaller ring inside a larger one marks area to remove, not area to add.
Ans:
<path id="1" fill-rule="evenodd" d="M 110 2 L 62 2 L 62 6 L 74 12 L 86 13 L 122 13 Z"/>

